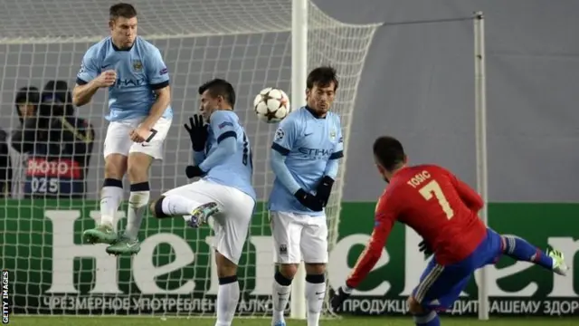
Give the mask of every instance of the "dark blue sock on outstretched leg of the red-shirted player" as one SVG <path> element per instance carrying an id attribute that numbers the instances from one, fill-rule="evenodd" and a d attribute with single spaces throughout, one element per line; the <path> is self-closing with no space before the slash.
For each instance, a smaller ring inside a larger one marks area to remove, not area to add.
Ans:
<path id="1" fill-rule="evenodd" d="M 511 258 L 519 261 L 530 262 L 553 270 L 553 258 L 549 257 L 541 249 L 531 245 L 527 240 L 516 235 L 502 235 L 503 252 Z"/>

